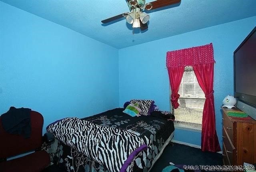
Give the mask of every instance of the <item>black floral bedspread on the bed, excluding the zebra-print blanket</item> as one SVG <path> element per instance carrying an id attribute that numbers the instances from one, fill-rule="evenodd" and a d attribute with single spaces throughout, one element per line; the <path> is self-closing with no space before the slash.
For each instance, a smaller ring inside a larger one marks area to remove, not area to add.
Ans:
<path id="1" fill-rule="evenodd" d="M 150 116 L 140 117 L 131 117 L 122 111 L 124 111 L 123 108 L 116 108 L 81 120 L 100 126 L 131 130 L 140 133 L 140 136 L 147 137 L 151 141 L 150 146 L 133 158 L 129 168 L 132 172 L 148 172 L 172 139 L 174 123 L 172 120 L 162 117 L 161 111 L 154 112 Z M 52 163 L 65 171 L 109 172 L 98 162 L 59 140 L 55 140 L 51 145 L 45 143 L 42 148 L 50 154 Z"/>

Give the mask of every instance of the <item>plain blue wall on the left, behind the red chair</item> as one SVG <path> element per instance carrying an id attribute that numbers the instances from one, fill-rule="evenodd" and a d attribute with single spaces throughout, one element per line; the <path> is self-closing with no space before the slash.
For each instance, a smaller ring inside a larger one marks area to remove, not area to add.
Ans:
<path id="1" fill-rule="evenodd" d="M 0 2 L 0 114 L 42 113 L 45 127 L 118 107 L 118 49 Z"/>

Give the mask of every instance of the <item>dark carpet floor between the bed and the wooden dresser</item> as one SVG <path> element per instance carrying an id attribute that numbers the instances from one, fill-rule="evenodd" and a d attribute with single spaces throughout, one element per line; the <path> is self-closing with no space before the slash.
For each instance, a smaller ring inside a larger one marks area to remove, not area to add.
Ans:
<path id="1" fill-rule="evenodd" d="M 151 172 L 161 172 L 166 166 L 183 165 L 222 165 L 222 154 L 202 152 L 201 149 L 171 142 L 157 160 Z"/>

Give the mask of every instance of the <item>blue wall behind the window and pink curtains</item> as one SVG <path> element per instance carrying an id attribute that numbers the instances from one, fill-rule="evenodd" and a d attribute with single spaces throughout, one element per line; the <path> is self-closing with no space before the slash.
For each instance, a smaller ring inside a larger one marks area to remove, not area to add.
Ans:
<path id="1" fill-rule="evenodd" d="M 255 26 L 255 17 L 196 30 L 119 50 L 119 105 L 130 99 L 153 99 L 162 110 L 170 110 L 166 52 L 205 45 L 214 47 L 216 60 L 214 98 L 216 130 L 222 141 L 220 106 L 234 93 L 233 52 Z M 176 129 L 175 140 L 201 145 L 201 132 Z"/>

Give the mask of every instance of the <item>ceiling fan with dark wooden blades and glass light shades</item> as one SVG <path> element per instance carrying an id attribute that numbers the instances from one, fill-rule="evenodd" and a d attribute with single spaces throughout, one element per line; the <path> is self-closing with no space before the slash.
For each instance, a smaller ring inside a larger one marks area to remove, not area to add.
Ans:
<path id="1" fill-rule="evenodd" d="M 177 4 L 180 0 L 156 0 L 150 3 L 146 3 L 145 0 L 126 0 L 126 2 L 130 8 L 130 12 L 124 12 L 123 14 L 102 20 L 101 22 L 106 24 L 125 17 L 126 21 L 132 24 L 132 28 L 146 30 L 148 28 L 147 22 L 149 15 L 143 12 L 144 10 L 154 10 L 156 8 Z"/>

